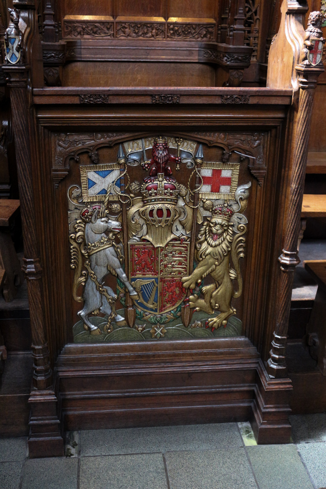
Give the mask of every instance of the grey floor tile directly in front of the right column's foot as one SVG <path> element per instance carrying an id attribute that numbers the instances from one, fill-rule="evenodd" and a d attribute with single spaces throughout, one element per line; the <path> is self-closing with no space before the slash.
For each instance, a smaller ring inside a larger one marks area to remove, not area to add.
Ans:
<path id="1" fill-rule="evenodd" d="M 260 489 L 313 489 L 295 445 L 247 446 Z"/>

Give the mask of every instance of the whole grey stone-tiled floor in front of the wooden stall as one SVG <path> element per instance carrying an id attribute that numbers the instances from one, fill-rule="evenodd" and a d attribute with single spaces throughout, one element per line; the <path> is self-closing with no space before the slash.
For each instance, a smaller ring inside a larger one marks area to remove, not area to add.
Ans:
<path id="1" fill-rule="evenodd" d="M 249 423 L 70 432 L 66 457 L 0 439 L 2 489 L 318 489 L 326 413 L 291 416 L 293 443 L 257 445 Z"/>

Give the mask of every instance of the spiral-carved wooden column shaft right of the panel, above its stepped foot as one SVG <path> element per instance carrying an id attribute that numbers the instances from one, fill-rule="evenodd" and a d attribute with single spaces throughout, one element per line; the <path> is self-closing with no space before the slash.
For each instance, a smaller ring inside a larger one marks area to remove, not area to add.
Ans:
<path id="1" fill-rule="evenodd" d="M 308 142 L 314 89 L 317 78 L 324 71 L 323 66 L 318 67 L 299 65 L 296 67 L 299 74 L 299 108 L 294 119 L 294 154 L 292 174 L 290 179 L 290 192 L 288 196 L 288 214 L 286 232 L 282 254 L 279 257 L 281 272 L 277 287 L 277 313 L 274 339 L 267 362 L 267 371 L 270 377 L 284 378 L 287 375 L 285 364 L 285 347 L 288 320 L 291 307 L 293 286 L 293 272 L 300 263 L 298 258 L 298 234 L 300 228 L 300 213 L 304 191 L 305 167 L 308 154 Z"/>

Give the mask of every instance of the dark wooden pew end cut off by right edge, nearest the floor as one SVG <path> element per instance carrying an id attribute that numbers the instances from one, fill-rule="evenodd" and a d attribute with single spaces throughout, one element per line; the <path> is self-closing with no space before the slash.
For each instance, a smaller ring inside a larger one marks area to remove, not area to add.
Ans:
<path id="1" fill-rule="evenodd" d="M 306 260 L 304 268 L 318 284 L 316 298 L 307 326 L 310 355 L 326 375 L 326 260 Z"/>

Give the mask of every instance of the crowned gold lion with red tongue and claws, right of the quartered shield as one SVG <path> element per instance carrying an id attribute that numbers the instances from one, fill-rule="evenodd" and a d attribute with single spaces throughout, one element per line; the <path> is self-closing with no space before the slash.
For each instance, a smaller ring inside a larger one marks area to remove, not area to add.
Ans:
<path id="1" fill-rule="evenodd" d="M 203 208 L 212 213 L 212 216 L 207 218 L 198 234 L 197 267 L 189 277 L 182 279 L 184 287 L 192 291 L 208 275 L 213 278 L 214 282 L 202 289 L 203 299 L 197 295 L 189 297 L 189 307 L 196 311 L 208 314 L 220 312 L 208 319 L 207 327 L 212 328 L 212 331 L 222 325 L 226 326 L 229 317 L 236 313 L 231 300 L 242 293 L 239 258 L 244 257 L 243 234 L 247 223 L 242 212 L 247 206 L 250 186 L 250 182 L 240 185 L 236 190 L 235 200 L 222 201 L 217 205 L 211 200 L 204 202 Z M 230 254 L 234 268 L 231 267 Z M 234 289 L 234 281 L 238 282 L 237 291 Z"/>

